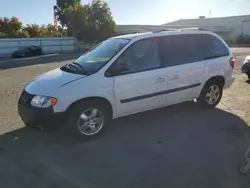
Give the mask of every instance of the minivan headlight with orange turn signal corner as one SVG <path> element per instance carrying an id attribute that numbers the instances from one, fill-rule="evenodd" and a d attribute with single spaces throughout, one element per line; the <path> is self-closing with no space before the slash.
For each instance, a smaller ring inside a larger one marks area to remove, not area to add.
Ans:
<path id="1" fill-rule="evenodd" d="M 36 95 L 31 100 L 31 105 L 38 108 L 48 108 L 56 104 L 57 99 L 54 97 L 38 96 Z"/>

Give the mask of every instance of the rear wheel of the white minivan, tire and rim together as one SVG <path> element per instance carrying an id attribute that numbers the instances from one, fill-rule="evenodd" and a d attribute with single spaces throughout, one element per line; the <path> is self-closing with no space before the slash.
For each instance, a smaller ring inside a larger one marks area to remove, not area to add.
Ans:
<path id="1" fill-rule="evenodd" d="M 214 108 L 219 104 L 222 93 L 222 85 L 215 81 L 210 81 L 204 85 L 197 102 L 202 108 Z"/>

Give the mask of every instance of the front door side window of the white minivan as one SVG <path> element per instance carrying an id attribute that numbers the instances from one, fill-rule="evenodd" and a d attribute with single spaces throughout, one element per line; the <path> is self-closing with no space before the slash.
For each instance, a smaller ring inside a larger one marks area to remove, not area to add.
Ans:
<path id="1" fill-rule="evenodd" d="M 136 41 L 117 59 L 115 65 L 126 63 L 127 70 L 122 73 L 140 72 L 160 67 L 155 39 Z"/>

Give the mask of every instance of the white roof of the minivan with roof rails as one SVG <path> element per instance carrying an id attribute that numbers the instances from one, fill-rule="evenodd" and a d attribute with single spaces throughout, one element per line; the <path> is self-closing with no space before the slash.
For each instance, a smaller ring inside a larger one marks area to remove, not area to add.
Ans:
<path id="1" fill-rule="evenodd" d="M 133 33 L 133 34 L 126 34 L 126 35 L 119 35 L 112 38 L 125 38 L 125 39 L 140 39 L 140 38 L 148 38 L 154 36 L 165 36 L 165 35 L 178 35 L 178 34 L 212 34 L 216 35 L 211 31 L 204 31 L 200 29 L 180 29 L 180 30 L 160 30 L 154 32 L 147 32 L 147 33 Z"/>

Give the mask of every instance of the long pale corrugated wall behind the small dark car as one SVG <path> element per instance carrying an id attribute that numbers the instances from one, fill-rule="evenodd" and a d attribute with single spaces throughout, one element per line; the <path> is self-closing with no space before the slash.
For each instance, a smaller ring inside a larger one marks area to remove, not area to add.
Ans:
<path id="1" fill-rule="evenodd" d="M 41 46 L 43 53 L 74 52 L 73 37 L 0 39 L 0 56 L 10 54 L 23 46 Z"/>

